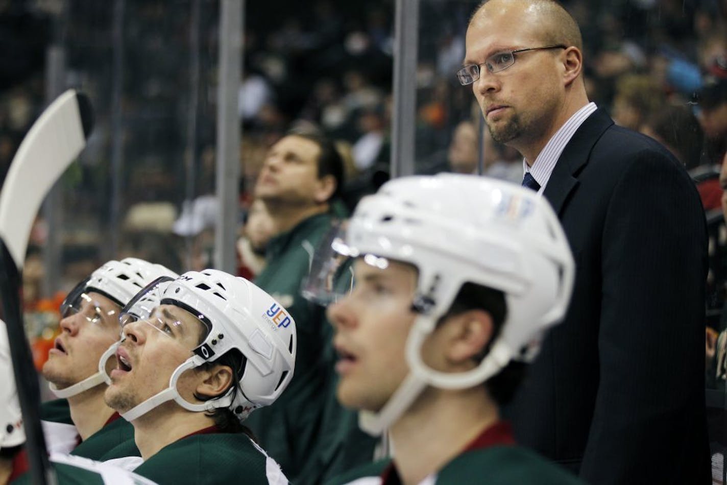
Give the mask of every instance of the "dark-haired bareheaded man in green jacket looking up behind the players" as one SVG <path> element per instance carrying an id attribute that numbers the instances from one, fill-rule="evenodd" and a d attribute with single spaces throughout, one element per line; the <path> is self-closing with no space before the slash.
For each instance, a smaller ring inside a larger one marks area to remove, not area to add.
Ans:
<path id="1" fill-rule="evenodd" d="M 371 460 L 375 444 L 334 399 L 330 326 L 324 308 L 301 292 L 316 247 L 336 215 L 345 215 L 336 209 L 342 183 L 343 163 L 334 144 L 295 134 L 270 148 L 254 189 L 276 227 L 255 283 L 295 318 L 299 346 L 289 390 L 248 425 L 286 476 L 301 485 L 319 484 L 330 470 Z"/>

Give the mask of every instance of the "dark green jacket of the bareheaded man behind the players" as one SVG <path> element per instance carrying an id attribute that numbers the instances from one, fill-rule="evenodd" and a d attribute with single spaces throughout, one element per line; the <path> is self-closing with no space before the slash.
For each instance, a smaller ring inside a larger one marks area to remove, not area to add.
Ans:
<path id="1" fill-rule="evenodd" d="M 373 454 L 374 441 L 358 431 L 356 419 L 335 401 L 332 328 L 325 308 L 300 293 L 313 253 L 333 219 L 332 214 L 314 215 L 271 239 L 267 265 L 255 279 L 293 316 L 298 345 L 290 385 L 272 406 L 253 412 L 245 425 L 297 485 L 320 484 L 328 470 L 350 470 L 370 462 Z M 350 452 L 352 447 L 356 452 Z"/>

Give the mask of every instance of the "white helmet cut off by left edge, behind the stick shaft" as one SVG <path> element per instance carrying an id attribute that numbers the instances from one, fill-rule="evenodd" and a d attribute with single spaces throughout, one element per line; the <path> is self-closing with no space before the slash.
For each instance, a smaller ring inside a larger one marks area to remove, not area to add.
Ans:
<path id="1" fill-rule="evenodd" d="M 0 449 L 25 443 L 5 322 L 0 320 Z"/>

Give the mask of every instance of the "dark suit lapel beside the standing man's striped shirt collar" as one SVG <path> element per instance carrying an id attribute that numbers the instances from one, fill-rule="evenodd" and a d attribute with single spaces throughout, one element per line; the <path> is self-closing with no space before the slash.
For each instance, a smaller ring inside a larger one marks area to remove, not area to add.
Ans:
<path id="1" fill-rule="evenodd" d="M 568 196 L 579 184 L 577 175 L 587 163 L 593 145 L 612 124 L 614 121 L 599 108 L 578 127 L 563 149 L 543 191 L 556 214 L 561 215 Z"/>

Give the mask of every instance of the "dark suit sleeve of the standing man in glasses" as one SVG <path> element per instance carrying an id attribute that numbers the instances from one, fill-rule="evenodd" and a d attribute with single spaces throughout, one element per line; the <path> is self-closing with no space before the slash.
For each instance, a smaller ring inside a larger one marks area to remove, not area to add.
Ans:
<path id="1" fill-rule="evenodd" d="M 581 476 L 687 483 L 677 477 L 706 445 L 704 211 L 681 167 L 656 151 L 636 158 L 603 226 L 600 375 Z"/>

